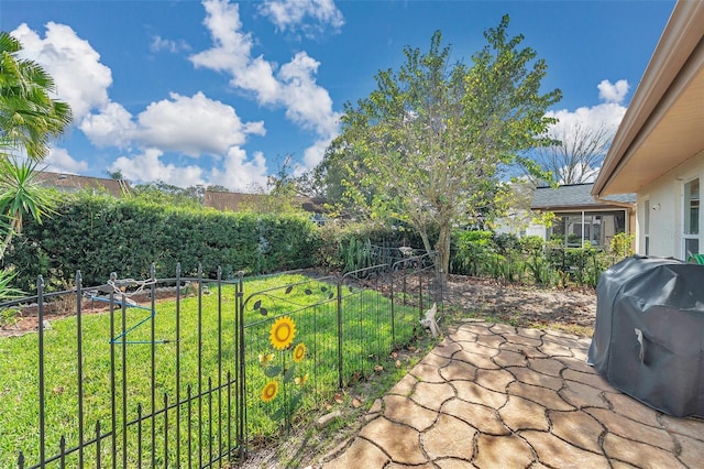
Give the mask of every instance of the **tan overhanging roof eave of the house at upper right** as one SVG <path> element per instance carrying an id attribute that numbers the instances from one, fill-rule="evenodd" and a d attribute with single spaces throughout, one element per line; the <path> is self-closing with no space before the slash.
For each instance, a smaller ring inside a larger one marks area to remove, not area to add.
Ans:
<path id="1" fill-rule="evenodd" d="M 680 0 L 592 194 L 637 193 L 704 150 L 704 1 Z"/>

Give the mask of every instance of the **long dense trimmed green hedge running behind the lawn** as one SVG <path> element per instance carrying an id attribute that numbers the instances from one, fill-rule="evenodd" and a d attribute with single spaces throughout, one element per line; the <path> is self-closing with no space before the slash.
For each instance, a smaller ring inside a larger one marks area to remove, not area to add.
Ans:
<path id="1" fill-rule="evenodd" d="M 238 271 L 266 273 L 311 266 L 320 247 L 316 226 L 302 215 L 232 214 L 205 208 L 164 206 L 139 198 L 105 195 L 67 196 L 58 215 L 37 225 L 28 219 L 4 259 L 14 266 L 15 286 L 25 292 L 42 274 L 50 290 L 120 279 L 146 279 L 152 263 L 157 277 L 223 277 Z"/>

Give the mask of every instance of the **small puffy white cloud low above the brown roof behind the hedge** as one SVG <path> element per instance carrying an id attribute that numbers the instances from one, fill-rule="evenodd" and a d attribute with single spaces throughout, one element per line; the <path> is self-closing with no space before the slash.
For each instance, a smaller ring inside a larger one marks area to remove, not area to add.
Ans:
<path id="1" fill-rule="evenodd" d="M 223 162 L 223 170 L 213 168 L 208 184 L 220 185 L 235 192 L 246 192 L 254 186 L 266 185 L 266 161 L 261 152 L 246 159 L 244 150 L 232 148 Z"/>

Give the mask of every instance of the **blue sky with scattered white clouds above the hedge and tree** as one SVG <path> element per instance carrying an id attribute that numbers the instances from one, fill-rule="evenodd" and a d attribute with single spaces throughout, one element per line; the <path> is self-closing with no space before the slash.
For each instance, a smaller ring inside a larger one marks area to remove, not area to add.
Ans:
<path id="1" fill-rule="evenodd" d="M 483 32 L 548 63 L 561 124 L 616 128 L 674 1 L 0 0 L 0 29 L 54 76 L 74 123 L 48 168 L 132 183 L 263 187 L 315 166 L 346 101 L 436 30 L 471 63 Z M 557 130 L 557 129 L 556 129 Z"/>

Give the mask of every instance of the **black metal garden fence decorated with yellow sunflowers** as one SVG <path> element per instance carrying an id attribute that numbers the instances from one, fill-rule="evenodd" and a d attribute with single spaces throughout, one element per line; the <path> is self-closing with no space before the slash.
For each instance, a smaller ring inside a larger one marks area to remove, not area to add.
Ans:
<path id="1" fill-rule="evenodd" d="M 242 276 L 152 277 L 0 304 L 0 467 L 223 467 L 320 408 L 441 307 L 433 255 L 249 293 Z M 62 321 L 47 319 L 69 316 Z M 3 378 L 4 377 L 4 378 Z M 11 378 L 10 378 L 11 377 Z"/>

